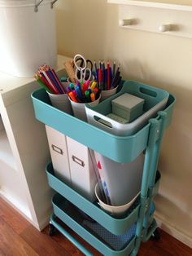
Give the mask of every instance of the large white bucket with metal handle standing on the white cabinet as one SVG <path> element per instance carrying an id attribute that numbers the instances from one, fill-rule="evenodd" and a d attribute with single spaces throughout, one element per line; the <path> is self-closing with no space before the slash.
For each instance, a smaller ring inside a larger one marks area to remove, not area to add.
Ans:
<path id="1" fill-rule="evenodd" d="M 41 64 L 55 68 L 55 7 L 50 0 L 0 0 L 0 71 L 33 77 Z"/>

